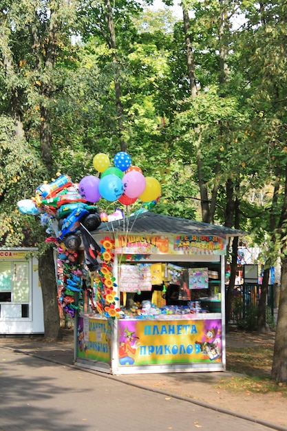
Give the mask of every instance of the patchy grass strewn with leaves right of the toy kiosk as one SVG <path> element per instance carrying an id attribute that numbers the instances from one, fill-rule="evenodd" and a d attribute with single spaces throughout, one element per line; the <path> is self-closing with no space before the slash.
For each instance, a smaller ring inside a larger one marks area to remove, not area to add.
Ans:
<path id="1" fill-rule="evenodd" d="M 287 398 L 287 384 L 271 380 L 273 346 L 228 348 L 226 370 L 240 373 L 222 379 L 220 388 L 248 394 L 279 394 Z"/>

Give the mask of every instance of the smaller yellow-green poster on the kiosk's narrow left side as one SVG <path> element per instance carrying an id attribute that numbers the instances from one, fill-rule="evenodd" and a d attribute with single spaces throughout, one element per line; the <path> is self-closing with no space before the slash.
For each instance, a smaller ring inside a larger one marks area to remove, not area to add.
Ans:
<path id="1" fill-rule="evenodd" d="M 111 322 L 79 317 L 76 350 L 77 357 L 111 364 Z"/>

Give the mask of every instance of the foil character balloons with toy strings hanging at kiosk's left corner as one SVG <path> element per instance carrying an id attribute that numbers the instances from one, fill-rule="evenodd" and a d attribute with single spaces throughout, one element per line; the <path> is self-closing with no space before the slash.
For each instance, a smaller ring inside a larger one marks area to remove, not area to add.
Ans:
<path id="1" fill-rule="evenodd" d="M 78 308 L 75 294 L 83 290 L 83 262 L 78 252 L 81 238 L 76 234 L 82 223 L 89 231 L 100 225 L 100 215 L 95 205 L 78 193 L 78 186 L 67 175 L 59 175 L 50 183 L 36 188 L 32 199 L 17 202 L 22 213 L 40 215 L 41 224 L 47 225 L 58 250 L 59 305 L 63 313 L 74 317 Z"/>

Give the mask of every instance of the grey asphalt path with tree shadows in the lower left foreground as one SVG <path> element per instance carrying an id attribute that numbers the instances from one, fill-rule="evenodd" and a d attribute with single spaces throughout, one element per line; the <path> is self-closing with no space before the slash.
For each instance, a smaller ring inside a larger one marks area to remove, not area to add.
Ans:
<path id="1" fill-rule="evenodd" d="M 0 364 L 1 431 L 273 429 L 9 348 Z"/>

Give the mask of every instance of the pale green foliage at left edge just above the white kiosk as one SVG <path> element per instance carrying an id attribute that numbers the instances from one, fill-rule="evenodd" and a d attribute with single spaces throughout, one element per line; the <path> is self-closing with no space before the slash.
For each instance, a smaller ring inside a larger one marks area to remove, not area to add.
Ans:
<path id="1" fill-rule="evenodd" d="M 31 246 L 39 242 L 39 220 L 19 213 L 16 202 L 33 196 L 47 173 L 37 152 L 15 136 L 14 128 L 11 118 L 0 116 L 0 242 Z"/>

